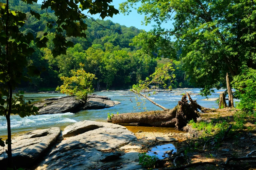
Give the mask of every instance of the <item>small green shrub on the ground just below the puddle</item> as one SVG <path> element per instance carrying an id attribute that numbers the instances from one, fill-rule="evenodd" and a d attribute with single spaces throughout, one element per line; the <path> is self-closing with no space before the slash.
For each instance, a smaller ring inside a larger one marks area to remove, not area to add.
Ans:
<path id="1" fill-rule="evenodd" d="M 149 156 L 146 152 L 139 154 L 139 163 L 143 168 L 154 168 L 157 159 L 156 156 Z"/>

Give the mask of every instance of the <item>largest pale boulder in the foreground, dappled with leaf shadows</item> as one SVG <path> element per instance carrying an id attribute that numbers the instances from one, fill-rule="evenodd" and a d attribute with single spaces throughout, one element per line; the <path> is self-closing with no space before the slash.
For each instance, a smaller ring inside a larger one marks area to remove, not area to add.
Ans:
<path id="1" fill-rule="evenodd" d="M 62 135 L 64 140 L 52 150 L 37 170 L 80 170 L 120 166 L 122 158 L 116 150 L 137 139 L 123 126 L 89 120 L 67 126 Z M 127 156 L 125 159 L 128 161 Z"/>

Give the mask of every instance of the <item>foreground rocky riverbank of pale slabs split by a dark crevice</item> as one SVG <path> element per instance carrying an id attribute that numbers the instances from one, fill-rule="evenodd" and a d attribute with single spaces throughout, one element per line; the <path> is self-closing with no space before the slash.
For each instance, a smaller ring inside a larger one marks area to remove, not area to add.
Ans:
<path id="1" fill-rule="evenodd" d="M 144 170 L 139 165 L 138 154 L 161 144 L 157 137 L 173 139 L 175 135 L 134 134 L 121 125 L 83 120 L 62 132 L 60 128 L 49 128 L 13 138 L 13 160 L 17 168 L 36 170 Z M 2 154 L 0 164 L 6 164 L 6 160 L 7 155 Z"/>

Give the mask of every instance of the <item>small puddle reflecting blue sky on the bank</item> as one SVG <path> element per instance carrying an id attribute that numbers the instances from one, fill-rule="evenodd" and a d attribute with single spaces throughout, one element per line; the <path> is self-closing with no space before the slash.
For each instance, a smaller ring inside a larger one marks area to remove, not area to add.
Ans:
<path id="1" fill-rule="evenodd" d="M 177 152 L 177 149 L 175 147 L 175 143 L 169 143 L 164 145 L 159 145 L 147 152 L 149 156 L 156 156 L 159 159 L 164 159 L 168 157 L 169 155 L 166 153 L 169 150 L 173 150 L 172 153 Z M 172 154 L 170 154 L 171 156 Z"/>

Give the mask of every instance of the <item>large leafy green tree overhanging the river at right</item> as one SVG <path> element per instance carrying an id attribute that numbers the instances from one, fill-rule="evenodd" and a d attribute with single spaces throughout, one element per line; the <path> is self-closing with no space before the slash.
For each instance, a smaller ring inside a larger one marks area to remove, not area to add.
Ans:
<path id="1" fill-rule="evenodd" d="M 163 50 L 182 49 L 186 75 L 205 95 L 220 87 L 219 82 L 226 84 L 227 72 L 232 79 L 243 65 L 256 68 L 255 0 L 127 0 L 120 10 L 129 13 L 138 2 L 141 6 L 136 9 L 145 14 L 144 23 L 157 25 L 136 39 L 147 38 L 145 48 L 156 49 L 160 44 Z M 173 27 L 164 29 L 162 23 Z M 166 48 L 169 45 L 161 42 L 172 36 L 177 39 L 174 48 Z"/>

